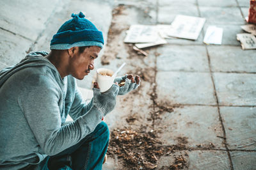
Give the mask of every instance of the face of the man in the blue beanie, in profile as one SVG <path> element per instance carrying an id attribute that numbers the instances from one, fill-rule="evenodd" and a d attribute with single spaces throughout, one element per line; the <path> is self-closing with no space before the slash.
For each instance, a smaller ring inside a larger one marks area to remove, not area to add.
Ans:
<path id="1" fill-rule="evenodd" d="M 84 52 L 79 53 L 78 47 L 74 50 L 73 56 L 70 59 L 69 72 L 76 79 L 82 80 L 85 75 L 90 73 L 94 68 L 94 59 L 99 55 L 100 47 L 91 46 L 84 49 Z"/>

